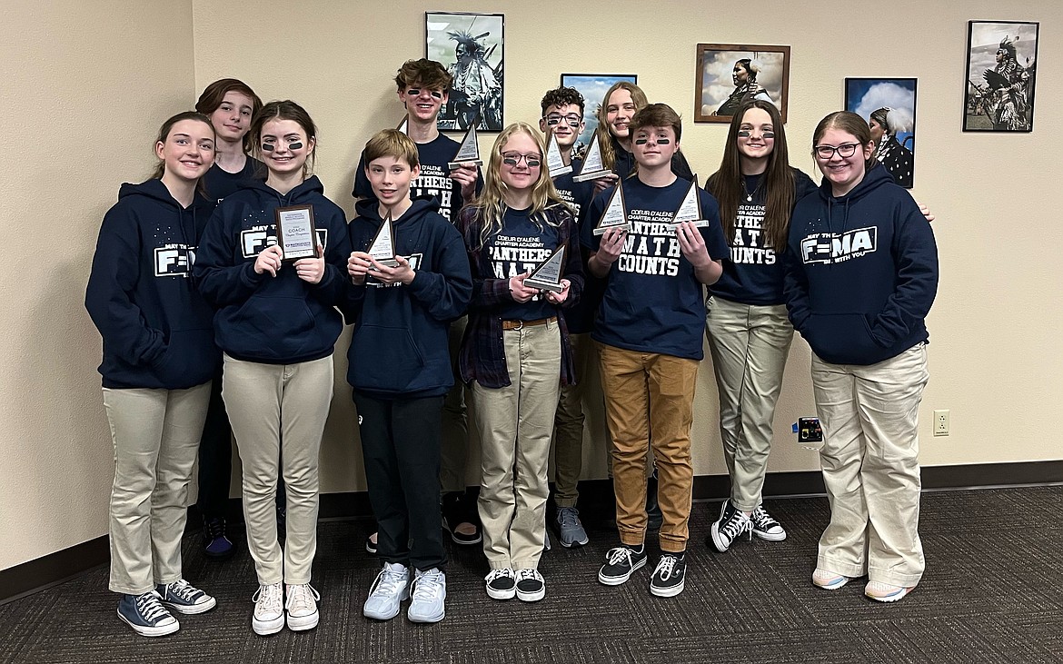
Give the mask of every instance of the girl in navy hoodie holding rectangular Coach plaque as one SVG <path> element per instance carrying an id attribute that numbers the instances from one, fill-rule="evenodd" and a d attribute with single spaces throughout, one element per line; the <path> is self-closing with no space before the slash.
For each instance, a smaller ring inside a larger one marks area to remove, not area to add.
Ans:
<path id="1" fill-rule="evenodd" d="M 292 101 L 270 102 L 251 135 L 266 181 L 225 197 L 204 233 L 195 274 L 218 307 L 222 395 L 243 462 L 248 548 L 259 583 L 252 628 L 271 634 L 285 623 L 292 630 L 318 624 L 318 593 L 310 586 L 318 449 L 332 399 L 333 346 L 343 326 L 335 305 L 348 294 L 351 243 L 343 210 L 309 174 L 317 131 L 306 110 Z M 305 257 L 292 256 L 297 251 Z M 273 508 L 282 474 L 283 551 Z"/>

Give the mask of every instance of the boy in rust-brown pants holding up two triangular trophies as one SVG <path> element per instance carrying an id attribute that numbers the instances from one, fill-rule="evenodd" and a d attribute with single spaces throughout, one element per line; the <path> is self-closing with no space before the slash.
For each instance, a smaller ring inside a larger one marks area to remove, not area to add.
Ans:
<path id="1" fill-rule="evenodd" d="M 596 236 L 588 223 L 581 232 L 584 245 L 593 252 L 588 271 L 608 279 L 591 338 L 598 344 L 612 435 L 620 546 L 609 550 L 598 580 L 619 585 L 646 564 L 645 467 L 652 447 L 663 524 L 649 591 L 661 597 L 685 586 L 694 475 L 690 427 L 703 358 L 704 286 L 720 278 L 727 253 L 715 200 L 705 191 L 697 193 L 708 226 L 670 223 L 690 189 L 689 181 L 672 172 L 681 130 L 679 116 L 664 104 L 635 114 L 629 132 L 638 171 L 618 185 L 631 229 L 610 228 Z M 611 197 L 612 190 L 598 194 L 589 218 L 600 218 Z"/>

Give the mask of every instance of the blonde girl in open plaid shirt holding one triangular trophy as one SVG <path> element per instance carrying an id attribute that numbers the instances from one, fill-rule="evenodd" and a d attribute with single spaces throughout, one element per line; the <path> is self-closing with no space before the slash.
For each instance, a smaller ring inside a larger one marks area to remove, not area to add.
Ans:
<path id="1" fill-rule="evenodd" d="M 546 594 L 537 567 L 550 439 L 558 386 L 574 378 L 558 308 L 575 303 L 583 287 L 578 253 L 567 252 L 560 292 L 543 295 L 524 284 L 558 246 L 572 246 L 575 232 L 546 172 L 545 150 L 532 126 L 507 126 L 491 149 L 483 195 L 458 220 L 473 276 L 460 369 L 475 401 L 486 583 L 494 599 L 538 601 Z"/>

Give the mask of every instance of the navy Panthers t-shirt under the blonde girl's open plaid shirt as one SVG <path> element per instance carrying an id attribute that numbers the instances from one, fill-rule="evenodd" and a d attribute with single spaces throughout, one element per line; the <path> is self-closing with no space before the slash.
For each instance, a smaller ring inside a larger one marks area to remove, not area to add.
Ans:
<path id="1" fill-rule="evenodd" d="M 526 209 L 505 211 L 502 228 L 484 245 L 494 278 L 508 279 L 523 272 L 530 274 L 557 249 L 557 228 L 541 218 L 536 221 L 528 217 Z M 529 302 L 508 302 L 497 311 L 505 321 L 537 321 L 557 314 L 557 308 L 544 295 L 536 295 Z"/>

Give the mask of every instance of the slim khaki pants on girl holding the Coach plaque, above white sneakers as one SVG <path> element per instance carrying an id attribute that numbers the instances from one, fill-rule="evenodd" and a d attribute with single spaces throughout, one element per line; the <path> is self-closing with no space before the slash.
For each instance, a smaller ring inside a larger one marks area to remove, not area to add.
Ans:
<path id="1" fill-rule="evenodd" d="M 264 364 L 225 355 L 222 396 L 243 464 L 248 549 L 261 584 L 310 582 L 318 545 L 318 452 L 332 394 L 332 356 Z M 287 495 L 283 551 L 274 504 L 282 473 Z"/>

